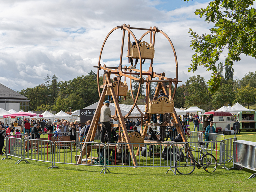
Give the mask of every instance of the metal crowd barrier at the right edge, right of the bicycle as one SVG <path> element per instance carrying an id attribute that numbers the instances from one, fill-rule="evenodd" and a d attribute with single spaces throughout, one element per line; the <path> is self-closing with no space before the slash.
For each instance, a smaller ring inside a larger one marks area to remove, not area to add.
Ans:
<path id="1" fill-rule="evenodd" d="M 256 171 L 256 142 L 244 140 L 234 141 L 233 153 L 233 167 L 230 169 L 236 169 L 241 166 Z M 252 179 L 255 176 L 256 173 L 253 173 L 248 179 Z"/>

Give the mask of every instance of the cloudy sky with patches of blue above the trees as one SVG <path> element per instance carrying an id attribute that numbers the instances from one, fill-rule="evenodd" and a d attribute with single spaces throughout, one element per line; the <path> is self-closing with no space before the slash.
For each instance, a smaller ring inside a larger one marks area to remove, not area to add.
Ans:
<path id="1" fill-rule="evenodd" d="M 88 75 L 98 65 L 100 49 L 108 32 L 124 23 L 131 27 L 158 27 L 172 40 L 179 67 L 179 80 L 201 75 L 207 81 L 211 72 L 198 68 L 188 72 L 193 50 L 189 28 L 199 35 L 209 33 L 212 24 L 195 15 L 209 1 L 194 0 L 8 0 L 0 2 L 0 83 L 17 91 L 44 83 L 46 74 L 55 74 L 58 81 L 72 80 Z M 145 31 L 133 31 L 137 39 Z M 122 31 L 116 30 L 108 38 L 101 64 L 118 66 Z M 149 42 L 149 36 L 145 36 Z M 127 33 L 125 36 L 123 66 L 127 60 Z M 170 44 L 160 33 L 156 34 L 153 68 L 167 77 L 176 74 L 175 60 Z M 220 57 L 223 62 L 225 52 Z M 234 63 L 234 79 L 255 71 L 255 59 L 241 55 Z M 149 61 L 143 65 L 148 70 Z M 102 71 L 103 72 L 103 71 Z"/>

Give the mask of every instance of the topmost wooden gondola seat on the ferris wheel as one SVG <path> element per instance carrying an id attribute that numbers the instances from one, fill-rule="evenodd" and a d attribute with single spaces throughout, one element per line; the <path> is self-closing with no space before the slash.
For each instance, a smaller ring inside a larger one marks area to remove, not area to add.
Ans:
<path id="1" fill-rule="evenodd" d="M 142 59 L 153 59 L 155 56 L 155 47 L 151 43 L 147 43 L 145 41 L 139 43 L 140 53 Z M 133 45 L 130 42 L 130 56 L 129 56 L 129 49 L 128 49 L 128 56 L 130 58 L 139 59 L 139 52 L 137 45 Z"/>

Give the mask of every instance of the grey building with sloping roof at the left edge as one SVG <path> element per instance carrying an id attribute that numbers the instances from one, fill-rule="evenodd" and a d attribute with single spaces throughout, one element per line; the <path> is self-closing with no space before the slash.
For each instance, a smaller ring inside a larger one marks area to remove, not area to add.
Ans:
<path id="1" fill-rule="evenodd" d="M 29 101 L 27 97 L 13 91 L 12 89 L 0 84 L 0 108 L 6 111 L 29 111 Z"/>

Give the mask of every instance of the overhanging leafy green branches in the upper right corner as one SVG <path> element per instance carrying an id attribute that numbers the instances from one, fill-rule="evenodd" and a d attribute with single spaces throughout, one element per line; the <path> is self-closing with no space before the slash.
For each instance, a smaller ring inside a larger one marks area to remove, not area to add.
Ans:
<path id="1" fill-rule="evenodd" d="M 188 0 L 183 0 L 188 1 Z M 207 23 L 214 26 L 210 34 L 199 36 L 191 28 L 191 47 L 195 51 L 192 64 L 188 71 L 195 72 L 199 66 L 212 70 L 212 76 L 207 82 L 211 92 L 218 90 L 220 74 L 215 63 L 224 49 L 225 65 L 233 66 L 240 60 L 240 54 L 256 58 L 256 10 L 252 7 L 255 0 L 213 0 L 206 8 L 196 9 L 195 14 L 205 17 Z"/>

